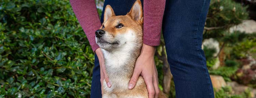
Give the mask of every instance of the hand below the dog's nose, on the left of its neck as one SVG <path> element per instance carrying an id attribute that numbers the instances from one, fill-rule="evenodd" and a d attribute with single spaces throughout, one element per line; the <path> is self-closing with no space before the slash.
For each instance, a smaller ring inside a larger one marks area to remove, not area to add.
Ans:
<path id="1" fill-rule="evenodd" d="M 98 48 L 95 50 L 95 53 L 97 54 L 97 57 L 99 58 L 100 63 L 100 83 L 101 83 L 101 91 L 102 91 L 102 85 L 104 83 L 104 79 L 106 81 L 106 85 L 110 88 L 111 83 L 109 82 L 109 76 L 106 74 L 105 64 L 104 64 L 104 57 L 103 53 L 101 51 L 101 48 Z"/>

